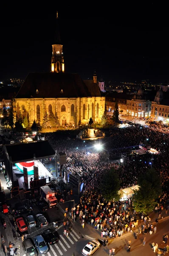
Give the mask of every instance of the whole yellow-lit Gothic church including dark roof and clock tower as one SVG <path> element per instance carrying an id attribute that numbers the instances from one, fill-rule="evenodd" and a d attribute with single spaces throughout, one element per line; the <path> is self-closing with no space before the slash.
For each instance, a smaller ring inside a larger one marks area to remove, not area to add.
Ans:
<path id="1" fill-rule="evenodd" d="M 58 17 L 56 17 L 57 20 Z M 63 45 L 59 30 L 52 45 L 51 72 L 29 73 L 14 99 L 14 116 L 27 116 L 30 124 L 42 124 L 45 111 L 48 116 L 57 113 L 60 125 L 73 125 L 76 122 L 88 124 L 100 122 L 105 110 L 105 97 L 93 80 L 82 80 L 77 73 L 65 73 Z"/>

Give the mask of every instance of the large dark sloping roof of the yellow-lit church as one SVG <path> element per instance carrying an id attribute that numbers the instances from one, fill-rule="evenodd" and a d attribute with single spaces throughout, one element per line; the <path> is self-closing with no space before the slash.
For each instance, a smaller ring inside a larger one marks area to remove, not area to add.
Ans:
<path id="1" fill-rule="evenodd" d="M 83 81 L 74 73 L 29 73 L 16 95 L 21 98 L 101 97 L 93 80 Z"/>

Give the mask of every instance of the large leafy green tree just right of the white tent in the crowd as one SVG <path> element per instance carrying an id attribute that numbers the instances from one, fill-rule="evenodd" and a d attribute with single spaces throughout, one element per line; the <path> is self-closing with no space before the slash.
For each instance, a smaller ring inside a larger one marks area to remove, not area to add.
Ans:
<path id="1" fill-rule="evenodd" d="M 146 174 L 138 178 L 139 190 L 133 196 L 133 205 L 136 212 L 148 214 L 154 210 L 156 199 L 162 193 L 161 178 L 155 169 L 147 170 Z"/>

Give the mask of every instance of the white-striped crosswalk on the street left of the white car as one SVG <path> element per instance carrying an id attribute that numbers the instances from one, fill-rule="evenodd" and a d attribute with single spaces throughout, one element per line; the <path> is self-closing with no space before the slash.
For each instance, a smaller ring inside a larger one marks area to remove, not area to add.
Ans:
<path id="1" fill-rule="evenodd" d="M 49 251 L 42 256 L 62 256 L 72 244 L 76 243 L 80 239 L 80 236 L 76 233 L 73 228 L 69 229 L 69 236 L 59 235 L 59 241 L 57 244 L 49 245 Z M 22 256 L 26 256 L 25 254 Z"/>

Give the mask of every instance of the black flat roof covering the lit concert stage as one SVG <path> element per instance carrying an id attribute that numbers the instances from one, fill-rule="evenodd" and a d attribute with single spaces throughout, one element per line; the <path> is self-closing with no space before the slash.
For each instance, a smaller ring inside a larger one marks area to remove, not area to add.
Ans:
<path id="1" fill-rule="evenodd" d="M 27 143 L 16 143 L 4 146 L 4 154 L 12 163 L 20 163 L 47 157 L 54 157 L 55 151 L 47 140 L 38 140 Z"/>

